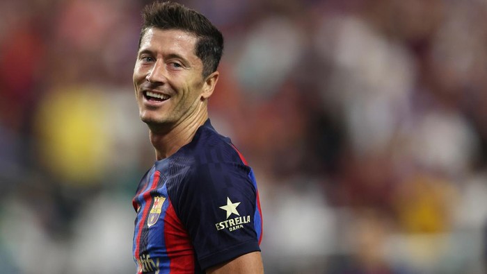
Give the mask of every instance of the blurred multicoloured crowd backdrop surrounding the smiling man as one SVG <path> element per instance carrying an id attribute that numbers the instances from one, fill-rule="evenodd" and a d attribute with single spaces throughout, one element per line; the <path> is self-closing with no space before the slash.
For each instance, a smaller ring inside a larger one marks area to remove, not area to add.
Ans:
<path id="1" fill-rule="evenodd" d="M 149 1 L 0 2 L 0 273 L 134 273 Z M 266 273 L 487 273 L 487 2 L 180 1 L 255 169 Z"/>

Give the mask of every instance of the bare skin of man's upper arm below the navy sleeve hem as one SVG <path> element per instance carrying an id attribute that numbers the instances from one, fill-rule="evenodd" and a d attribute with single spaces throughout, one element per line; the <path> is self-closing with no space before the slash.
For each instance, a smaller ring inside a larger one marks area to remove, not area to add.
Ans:
<path id="1" fill-rule="evenodd" d="M 232 259 L 223 264 L 213 266 L 207 270 L 207 274 L 260 274 L 264 273 L 264 266 L 262 264 L 262 257 L 260 252 L 250 252 Z"/>

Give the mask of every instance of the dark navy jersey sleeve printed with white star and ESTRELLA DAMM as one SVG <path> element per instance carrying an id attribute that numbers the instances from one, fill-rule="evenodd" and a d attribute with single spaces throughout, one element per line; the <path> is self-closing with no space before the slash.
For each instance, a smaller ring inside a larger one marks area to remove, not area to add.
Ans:
<path id="1" fill-rule="evenodd" d="M 201 164 L 188 179 L 177 189 L 174 206 L 202 269 L 260 251 L 254 220 L 257 189 L 250 167 Z"/>

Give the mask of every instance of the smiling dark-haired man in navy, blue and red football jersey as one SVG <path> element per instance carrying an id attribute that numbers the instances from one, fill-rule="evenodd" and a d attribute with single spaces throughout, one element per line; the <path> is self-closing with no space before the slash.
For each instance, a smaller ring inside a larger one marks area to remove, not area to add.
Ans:
<path id="1" fill-rule="evenodd" d="M 134 87 L 157 161 L 133 204 L 138 273 L 263 273 L 252 169 L 211 126 L 223 37 L 177 3 L 143 10 Z"/>

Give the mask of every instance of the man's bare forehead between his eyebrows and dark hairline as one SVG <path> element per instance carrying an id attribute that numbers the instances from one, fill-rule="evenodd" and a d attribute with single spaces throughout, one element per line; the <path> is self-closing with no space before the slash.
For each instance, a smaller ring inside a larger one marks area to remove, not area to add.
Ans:
<path id="1" fill-rule="evenodd" d="M 141 38 L 139 51 L 154 51 L 155 53 L 176 53 L 185 57 L 195 58 L 195 45 L 198 38 L 192 33 L 180 30 L 162 30 L 148 28 Z"/>

